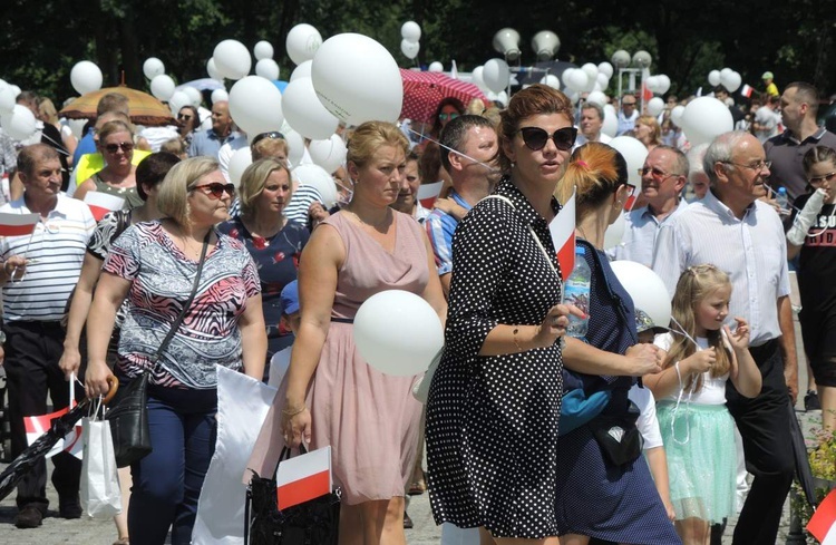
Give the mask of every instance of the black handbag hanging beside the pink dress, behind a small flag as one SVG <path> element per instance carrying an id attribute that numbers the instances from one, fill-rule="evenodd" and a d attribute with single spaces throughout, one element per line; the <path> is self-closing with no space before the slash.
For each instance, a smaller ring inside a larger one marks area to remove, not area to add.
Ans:
<path id="1" fill-rule="evenodd" d="M 285 447 L 279 463 L 288 458 L 290 449 Z M 273 478 L 260 477 L 253 471 L 246 487 L 244 545 L 337 545 L 341 497 L 342 492 L 337 488 L 331 494 L 279 510 L 275 471 Z"/>

